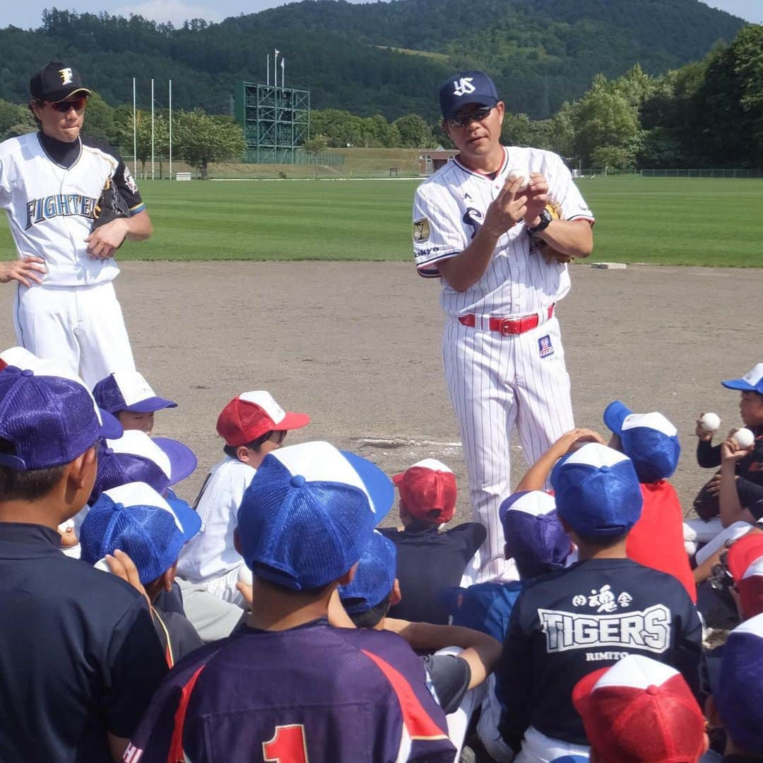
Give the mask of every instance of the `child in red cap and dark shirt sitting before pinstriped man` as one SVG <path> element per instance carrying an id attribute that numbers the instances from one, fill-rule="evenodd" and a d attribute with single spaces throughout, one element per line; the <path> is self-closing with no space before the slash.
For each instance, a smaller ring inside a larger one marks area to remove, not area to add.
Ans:
<path id="1" fill-rule="evenodd" d="M 456 513 L 456 475 L 442 462 L 424 459 L 394 475 L 392 481 L 400 491 L 403 529 L 389 527 L 380 532 L 398 549 L 402 599 L 391 608 L 390 615 L 446 625 L 448 612 L 441 592 L 461 584 L 487 531 L 477 522 L 440 530 Z"/>

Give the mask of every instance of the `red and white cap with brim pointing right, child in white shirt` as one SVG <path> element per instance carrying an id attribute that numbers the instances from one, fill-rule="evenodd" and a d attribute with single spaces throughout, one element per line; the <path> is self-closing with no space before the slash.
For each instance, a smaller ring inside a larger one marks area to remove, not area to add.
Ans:
<path id="1" fill-rule="evenodd" d="M 263 434 L 295 430 L 310 423 L 307 414 L 283 410 L 269 392 L 243 392 L 228 403 L 217 417 L 217 433 L 226 445 L 251 443 Z"/>

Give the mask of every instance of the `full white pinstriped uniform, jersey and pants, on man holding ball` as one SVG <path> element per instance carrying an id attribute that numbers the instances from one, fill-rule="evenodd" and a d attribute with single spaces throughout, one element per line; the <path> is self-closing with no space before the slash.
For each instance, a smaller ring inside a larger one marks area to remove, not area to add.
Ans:
<path id="1" fill-rule="evenodd" d="M 530 172 L 542 173 L 562 220 L 594 222 L 555 153 L 504 147 L 504 162 L 494 178 L 472 172 L 454 159 L 416 192 L 414 256 L 420 275 L 438 277 L 438 263 L 468 247 L 513 169 L 525 178 Z M 547 263 L 524 223 L 501 236 L 484 275 L 465 291 L 442 280 L 446 381 L 459 421 L 475 520 L 488 530 L 474 570 L 478 582 L 516 577 L 513 565 L 503 558 L 504 533 L 498 518 L 501 501 L 511 493 L 513 428 L 516 425 L 525 459 L 532 464 L 574 427 L 559 321 L 552 314 L 569 289 L 567 266 Z M 471 325 L 459 321 L 467 315 L 474 316 L 468 321 Z M 490 320 L 520 316 L 537 316 L 533 318 L 537 325 L 523 322 L 522 333 L 504 335 Z"/>

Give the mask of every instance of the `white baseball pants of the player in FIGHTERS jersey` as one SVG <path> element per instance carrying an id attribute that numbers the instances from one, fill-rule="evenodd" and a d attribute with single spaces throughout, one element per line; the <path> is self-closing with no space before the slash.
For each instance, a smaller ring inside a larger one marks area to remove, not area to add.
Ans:
<path id="1" fill-rule="evenodd" d="M 89 388 L 114 371 L 134 371 L 133 351 L 111 282 L 94 286 L 19 285 L 16 340 L 40 358 L 56 359 Z"/>

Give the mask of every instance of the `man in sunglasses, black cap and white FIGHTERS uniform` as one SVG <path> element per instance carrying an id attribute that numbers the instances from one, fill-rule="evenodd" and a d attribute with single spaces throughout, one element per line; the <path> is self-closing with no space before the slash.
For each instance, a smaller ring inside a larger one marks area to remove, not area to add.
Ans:
<path id="1" fill-rule="evenodd" d="M 52 62 L 30 82 L 36 133 L 0 143 L 0 208 L 8 213 L 18 259 L 0 262 L 0 283 L 18 282 L 18 343 L 60 359 L 92 387 L 135 364 L 112 281 L 125 238 L 151 234 L 137 185 L 111 146 L 82 137 L 92 92 L 69 64 Z M 93 230 L 110 182 L 129 215 Z M 2 256 L 2 255 L 0 255 Z"/>

